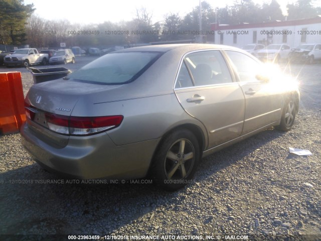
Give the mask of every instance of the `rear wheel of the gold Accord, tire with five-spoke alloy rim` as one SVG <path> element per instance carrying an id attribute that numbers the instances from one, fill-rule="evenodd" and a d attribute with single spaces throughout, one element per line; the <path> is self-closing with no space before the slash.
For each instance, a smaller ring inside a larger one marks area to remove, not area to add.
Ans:
<path id="1" fill-rule="evenodd" d="M 186 129 L 175 131 L 162 141 L 156 151 L 153 178 L 163 189 L 178 190 L 190 183 L 200 157 L 195 135 Z"/>

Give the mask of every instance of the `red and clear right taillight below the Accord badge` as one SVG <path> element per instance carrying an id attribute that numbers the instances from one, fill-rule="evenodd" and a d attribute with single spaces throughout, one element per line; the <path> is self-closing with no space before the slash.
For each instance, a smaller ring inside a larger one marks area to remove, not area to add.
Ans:
<path id="1" fill-rule="evenodd" d="M 122 115 L 77 117 L 59 114 L 45 114 L 48 127 L 54 132 L 75 136 L 92 135 L 118 127 Z"/>

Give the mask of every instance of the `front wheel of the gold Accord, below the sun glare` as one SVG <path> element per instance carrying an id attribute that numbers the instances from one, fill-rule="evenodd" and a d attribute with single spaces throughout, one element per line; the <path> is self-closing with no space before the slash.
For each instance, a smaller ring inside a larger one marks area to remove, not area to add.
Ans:
<path id="1" fill-rule="evenodd" d="M 275 128 L 284 132 L 291 130 L 294 124 L 296 110 L 296 102 L 293 96 L 287 97 L 283 106 L 280 125 Z"/>

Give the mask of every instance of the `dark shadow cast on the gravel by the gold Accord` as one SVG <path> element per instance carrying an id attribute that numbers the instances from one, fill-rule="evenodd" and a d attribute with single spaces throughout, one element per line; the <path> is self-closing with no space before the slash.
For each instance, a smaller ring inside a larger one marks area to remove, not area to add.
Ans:
<path id="1" fill-rule="evenodd" d="M 172 211 L 199 183 L 284 133 L 273 129 L 204 158 L 194 184 L 176 192 L 159 189 L 150 180 L 118 184 L 81 184 L 59 179 L 32 164 L 0 174 L 0 234 L 108 234 L 137 220 L 150 220 L 154 211 Z M 144 230 L 145 232 L 152 231 Z"/>

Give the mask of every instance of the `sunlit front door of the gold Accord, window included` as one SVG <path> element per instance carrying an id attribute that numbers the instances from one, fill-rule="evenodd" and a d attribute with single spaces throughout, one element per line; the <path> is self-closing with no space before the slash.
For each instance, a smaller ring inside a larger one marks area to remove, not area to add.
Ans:
<path id="1" fill-rule="evenodd" d="M 225 51 L 233 63 L 245 96 L 242 134 L 247 134 L 279 120 L 282 98 L 277 86 L 257 79 L 264 66 L 256 59 L 236 51 Z"/>

